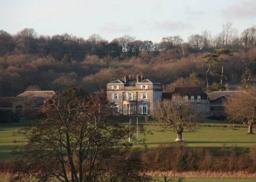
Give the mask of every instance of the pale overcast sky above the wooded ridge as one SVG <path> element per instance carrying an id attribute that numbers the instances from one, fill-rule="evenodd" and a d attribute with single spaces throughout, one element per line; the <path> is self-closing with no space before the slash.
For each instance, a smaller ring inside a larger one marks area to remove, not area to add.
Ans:
<path id="1" fill-rule="evenodd" d="M 256 25 L 256 0 L 0 0 L 0 30 L 28 27 L 38 35 L 69 33 L 107 40 L 123 35 L 159 42 L 187 39 L 203 30 L 215 35 L 226 21 L 240 33 Z"/>

